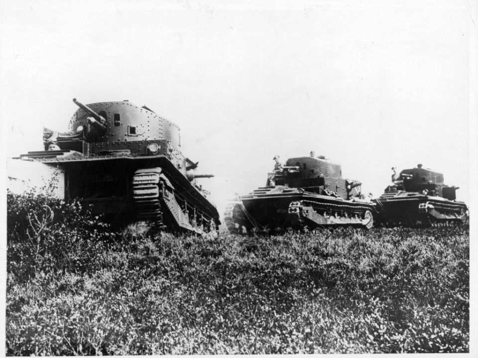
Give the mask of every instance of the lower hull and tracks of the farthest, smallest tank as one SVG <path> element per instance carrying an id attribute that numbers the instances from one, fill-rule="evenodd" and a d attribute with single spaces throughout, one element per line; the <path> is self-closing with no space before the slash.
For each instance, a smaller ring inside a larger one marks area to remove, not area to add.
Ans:
<path id="1" fill-rule="evenodd" d="M 464 202 L 418 192 L 396 191 L 374 199 L 376 221 L 385 226 L 464 224 L 469 211 Z"/>

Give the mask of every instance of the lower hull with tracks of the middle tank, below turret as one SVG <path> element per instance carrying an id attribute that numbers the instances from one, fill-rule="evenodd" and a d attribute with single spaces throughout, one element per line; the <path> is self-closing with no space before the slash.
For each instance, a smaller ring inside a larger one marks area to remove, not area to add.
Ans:
<path id="1" fill-rule="evenodd" d="M 285 229 L 373 225 L 374 206 L 357 199 L 308 192 L 287 186 L 260 187 L 240 196 L 225 212 L 231 232 L 274 232 Z"/>

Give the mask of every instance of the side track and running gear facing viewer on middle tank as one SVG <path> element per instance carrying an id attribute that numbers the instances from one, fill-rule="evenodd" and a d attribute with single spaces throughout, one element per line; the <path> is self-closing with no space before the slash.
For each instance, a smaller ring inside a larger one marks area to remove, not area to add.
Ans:
<path id="1" fill-rule="evenodd" d="M 311 200 L 292 201 L 289 218 L 294 228 L 316 228 L 321 226 L 373 227 L 372 207 L 365 205 L 331 204 Z"/>

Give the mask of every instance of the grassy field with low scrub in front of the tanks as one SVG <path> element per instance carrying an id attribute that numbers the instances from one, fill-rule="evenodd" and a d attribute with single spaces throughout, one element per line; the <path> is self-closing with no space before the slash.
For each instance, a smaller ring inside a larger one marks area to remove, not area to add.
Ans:
<path id="1" fill-rule="evenodd" d="M 468 227 L 148 236 L 10 194 L 7 226 L 7 355 L 469 350 Z"/>

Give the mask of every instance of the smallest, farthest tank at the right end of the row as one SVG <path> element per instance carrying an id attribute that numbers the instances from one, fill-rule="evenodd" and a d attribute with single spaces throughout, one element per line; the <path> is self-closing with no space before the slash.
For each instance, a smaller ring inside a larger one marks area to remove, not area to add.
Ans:
<path id="1" fill-rule="evenodd" d="M 378 224 L 385 226 L 436 226 L 466 223 L 467 205 L 456 200 L 457 186 L 444 184 L 443 174 L 425 169 L 392 168 L 392 184 L 376 203 Z"/>

